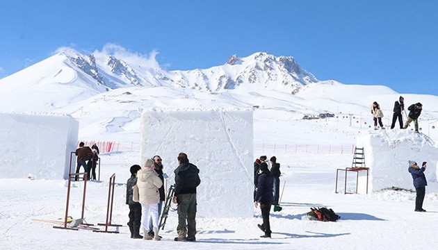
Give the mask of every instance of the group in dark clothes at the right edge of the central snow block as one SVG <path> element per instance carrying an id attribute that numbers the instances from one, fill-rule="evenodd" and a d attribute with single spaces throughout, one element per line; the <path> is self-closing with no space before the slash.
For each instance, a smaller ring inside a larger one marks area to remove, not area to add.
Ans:
<path id="1" fill-rule="evenodd" d="M 270 158 L 271 167 L 268 169 L 266 156 L 260 156 L 254 161 L 254 206 L 260 207 L 263 224 L 258 224 L 264 235 L 261 238 L 270 238 L 269 214 L 271 206 L 279 205 L 279 170 L 275 156 Z"/>

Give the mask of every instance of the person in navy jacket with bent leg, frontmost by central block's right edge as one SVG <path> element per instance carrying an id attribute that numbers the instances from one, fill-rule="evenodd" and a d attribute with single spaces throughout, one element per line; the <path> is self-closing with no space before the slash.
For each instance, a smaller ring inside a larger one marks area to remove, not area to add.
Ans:
<path id="1" fill-rule="evenodd" d="M 261 235 L 261 238 L 270 238 L 270 223 L 269 223 L 269 213 L 270 206 L 273 203 L 273 176 L 270 175 L 268 164 L 261 163 L 260 164 L 260 176 L 259 181 L 257 183 L 257 194 L 256 201 L 254 202 L 254 206 L 260 205 L 261 209 L 261 217 L 263 218 L 263 224 L 258 224 L 261 231 L 265 232 L 264 235 Z"/>

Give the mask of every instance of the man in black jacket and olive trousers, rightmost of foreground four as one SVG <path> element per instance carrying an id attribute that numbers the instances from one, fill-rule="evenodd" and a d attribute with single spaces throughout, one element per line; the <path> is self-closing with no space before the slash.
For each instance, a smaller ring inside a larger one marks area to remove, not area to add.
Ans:
<path id="1" fill-rule="evenodd" d="M 188 162 L 186 153 L 179 153 L 175 169 L 175 194 L 178 203 L 178 237 L 175 241 L 196 241 L 196 188 L 200 185 L 200 169 Z M 186 237 L 187 235 L 187 237 Z"/>

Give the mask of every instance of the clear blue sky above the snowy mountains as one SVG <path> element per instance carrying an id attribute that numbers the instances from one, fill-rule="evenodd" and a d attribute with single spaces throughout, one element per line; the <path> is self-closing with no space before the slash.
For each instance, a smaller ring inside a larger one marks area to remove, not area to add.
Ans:
<path id="1" fill-rule="evenodd" d="M 438 95 L 438 1 L 0 0 L 0 78 L 113 43 L 165 69 L 265 51 L 320 80 Z"/>

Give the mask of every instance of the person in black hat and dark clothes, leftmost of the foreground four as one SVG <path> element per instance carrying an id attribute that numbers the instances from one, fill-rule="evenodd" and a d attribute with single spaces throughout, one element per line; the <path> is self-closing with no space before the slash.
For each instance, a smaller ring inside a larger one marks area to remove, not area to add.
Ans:
<path id="1" fill-rule="evenodd" d="M 141 167 L 139 165 L 132 165 L 129 171 L 131 172 L 131 177 L 127 181 L 127 205 L 129 206 L 129 231 L 131 231 L 131 238 L 133 239 L 143 239 L 140 235 L 140 225 L 141 225 L 141 204 L 133 201 L 133 190 L 132 187 L 137 184 L 137 172 Z"/>

